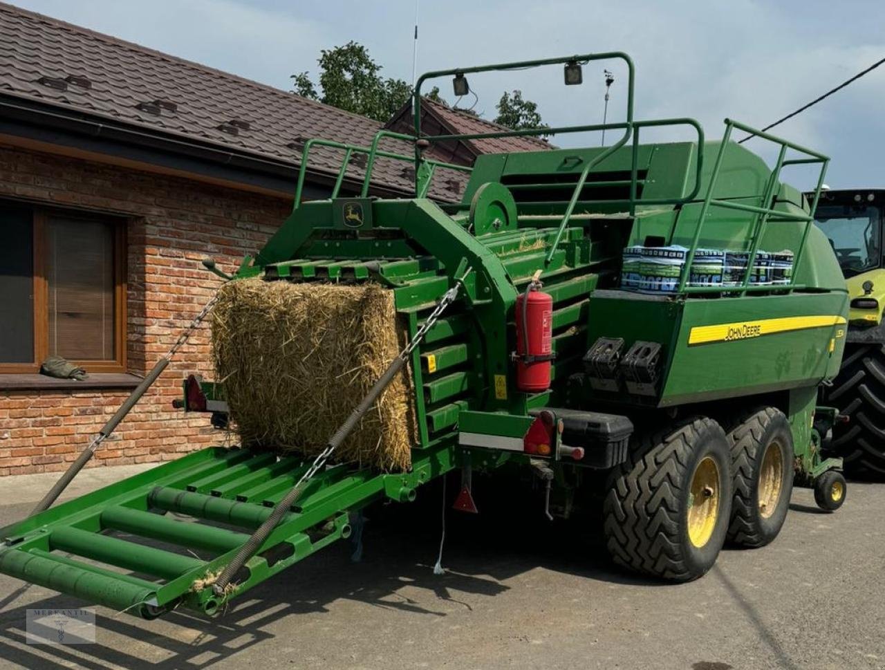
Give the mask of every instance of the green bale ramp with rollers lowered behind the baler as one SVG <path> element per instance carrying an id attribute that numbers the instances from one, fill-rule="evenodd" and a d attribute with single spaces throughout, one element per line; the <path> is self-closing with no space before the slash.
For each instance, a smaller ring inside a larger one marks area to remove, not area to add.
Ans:
<path id="1" fill-rule="evenodd" d="M 409 473 L 381 474 L 348 466 L 333 466 L 319 473 L 305 487 L 300 506 L 283 518 L 247 563 L 242 581 L 230 597 L 240 596 L 347 537 L 349 511 L 382 497 L 412 500 L 420 485 L 458 466 L 453 440 L 450 437 L 422 450 Z M 221 601 L 212 589 L 193 590 L 194 582 L 227 565 L 251 530 L 266 519 L 273 504 L 307 468 L 306 463 L 292 460 L 281 461 L 291 465 L 289 469 L 264 472 L 264 454 L 219 447 L 195 451 L 0 529 L 0 539 L 7 541 L 0 545 L 0 572 L 145 618 L 178 603 L 212 614 Z M 225 497 L 190 490 L 196 481 L 243 465 L 249 467 L 239 471 Z M 267 477 L 263 496 L 254 498 L 256 502 L 242 502 L 239 494 L 256 489 L 254 475 L 259 472 Z M 185 514 L 190 520 L 153 511 Z M 212 522 L 235 529 L 209 525 Z M 105 530 L 134 537 L 104 535 Z M 183 551 L 159 549 L 136 538 L 177 545 Z M 212 558 L 197 558 L 187 550 L 206 551 Z M 150 581 L 118 572 L 120 568 L 150 575 Z"/>

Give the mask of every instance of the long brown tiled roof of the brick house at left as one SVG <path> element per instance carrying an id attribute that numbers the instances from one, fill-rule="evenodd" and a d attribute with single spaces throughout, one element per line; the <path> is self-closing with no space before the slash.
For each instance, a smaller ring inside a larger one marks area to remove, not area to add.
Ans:
<path id="1" fill-rule="evenodd" d="M 293 164 L 308 138 L 366 145 L 382 127 L 373 119 L 2 3 L 0 93 Z M 384 148 L 412 153 L 405 143 L 386 141 Z M 335 173 L 341 158 L 335 150 L 312 151 L 309 166 Z M 411 189 L 411 171 L 406 163 L 380 159 L 373 181 Z M 349 171 L 354 178 L 363 174 L 358 166 Z"/>

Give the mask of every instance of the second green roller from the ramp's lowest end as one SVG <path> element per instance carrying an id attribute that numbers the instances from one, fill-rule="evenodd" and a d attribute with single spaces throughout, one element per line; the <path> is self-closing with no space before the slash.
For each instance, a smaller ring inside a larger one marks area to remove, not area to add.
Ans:
<path id="1" fill-rule="evenodd" d="M 142 544 L 127 542 L 117 537 L 90 533 L 80 528 L 62 526 L 50 534 L 50 547 L 68 551 L 85 558 L 107 563 L 109 566 L 125 567 L 138 573 L 154 574 L 173 580 L 190 572 L 204 562 L 199 558 L 181 556 Z"/>

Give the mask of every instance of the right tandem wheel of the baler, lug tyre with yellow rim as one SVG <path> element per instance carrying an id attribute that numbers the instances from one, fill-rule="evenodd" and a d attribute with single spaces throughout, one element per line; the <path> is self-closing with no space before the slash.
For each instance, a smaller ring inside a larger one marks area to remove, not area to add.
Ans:
<path id="1" fill-rule="evenodd" d="M 781 532 L 793 491 L 793 434 L 774 407 L 744 415 L 728 433 L 731 446 L 731 520 L 727 541 L 763 547 Z"/>

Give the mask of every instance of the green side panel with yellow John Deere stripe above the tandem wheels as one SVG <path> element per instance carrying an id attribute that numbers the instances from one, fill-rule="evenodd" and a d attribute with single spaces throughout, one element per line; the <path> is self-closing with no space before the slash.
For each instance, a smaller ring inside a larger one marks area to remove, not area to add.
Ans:
<path id="1" fill-rule="evenodd" d="M 637 340 L 660 343 L 662 406 L 746 396 L 825 379 L 841 355 L 847 306 L 841 292 L 679 301 L 609 291 L 590 298 L 588 342 L 623 337 L 625 351 Z"/>

